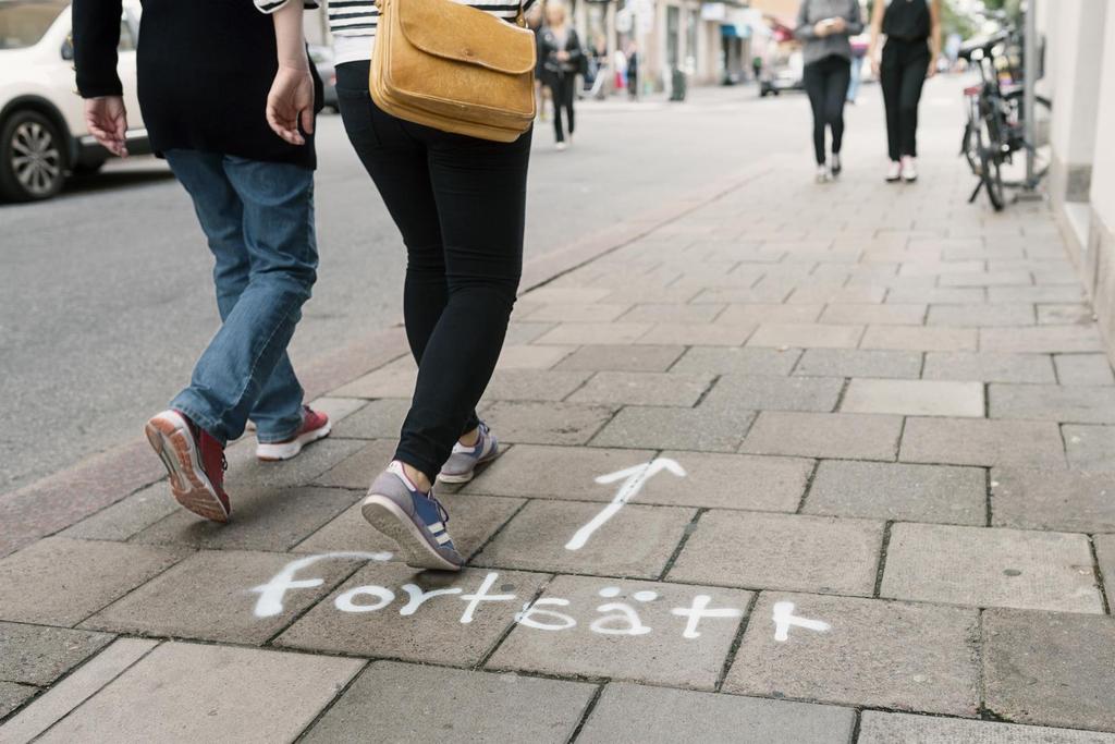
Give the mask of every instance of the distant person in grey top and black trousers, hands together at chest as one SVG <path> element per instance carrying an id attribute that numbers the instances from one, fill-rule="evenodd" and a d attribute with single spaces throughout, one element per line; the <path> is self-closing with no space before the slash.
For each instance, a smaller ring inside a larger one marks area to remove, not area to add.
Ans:
<path id="1" fill-rule="evenodd" d="M 795 35 L 805 42 L 803 81 L 813 108 L 813 152 L 817 183 L 838 176 L 844 142 L 844 102 L 851 80 L 851 36 L 863 31 L 860 0 L 804 0 Z M 832 157 L 825 156 L 825 129 L 832 133 Z"/>

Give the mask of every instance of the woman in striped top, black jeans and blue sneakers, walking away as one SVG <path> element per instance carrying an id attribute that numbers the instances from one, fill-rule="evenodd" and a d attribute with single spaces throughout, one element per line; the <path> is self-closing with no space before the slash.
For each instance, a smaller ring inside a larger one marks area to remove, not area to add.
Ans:
<path id="1" fill-rule="evenodd" d="M 265 12 L 300 1 L 254 0 Z M 469 2 L 508 22 L 522 10 L 521 0 Z M 531 132 L 492 142 L 379 108 L 368 83 L 378 21 L 370 0 L 329 3 L 345 131 L 407 249 L 403 309 L 418 364 L 395 456 L 372 481 L 362 513 L 408 564 L 458 570 L 464 559 L 434 483 L 464 483 L 500 454 L 476 405 L 503 349 L 522 274 Z"/>

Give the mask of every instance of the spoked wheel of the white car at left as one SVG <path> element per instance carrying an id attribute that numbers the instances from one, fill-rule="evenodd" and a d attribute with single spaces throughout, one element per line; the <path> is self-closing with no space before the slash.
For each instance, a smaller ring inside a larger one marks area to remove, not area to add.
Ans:
<path id="1" fill-rule="evenodd" d="M 0 127 L 0 195 L 17 202 L 50 199 L 66 181 L 65 145 L 38 112 L 12 114 Z"/>

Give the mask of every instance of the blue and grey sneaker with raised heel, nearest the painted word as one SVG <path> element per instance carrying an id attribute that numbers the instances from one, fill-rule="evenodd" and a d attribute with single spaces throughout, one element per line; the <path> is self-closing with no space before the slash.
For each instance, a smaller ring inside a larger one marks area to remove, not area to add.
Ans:
<path id="1" fill-rule="evenodd" d="M 440 571 L 459 571 L 464 566 L 445 526 L 449 513 L 433 493 L 425 494 L 411 483 L 403 463 L 394 461 L 380 473 L 360 511 L 369 524 L 398 544 L 407 566 Z"/>

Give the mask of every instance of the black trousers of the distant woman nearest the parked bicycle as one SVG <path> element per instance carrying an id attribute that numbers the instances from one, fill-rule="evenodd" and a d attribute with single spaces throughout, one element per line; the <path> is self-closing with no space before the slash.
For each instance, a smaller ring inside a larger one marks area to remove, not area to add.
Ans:
<path id="1" fill-rule="evenodd" d="M 879 70 L 886 107 L 886 144 L 892 161 L 918 155 L 918 103 L 929 71 L 925 40 L 888 39 Z"/>

